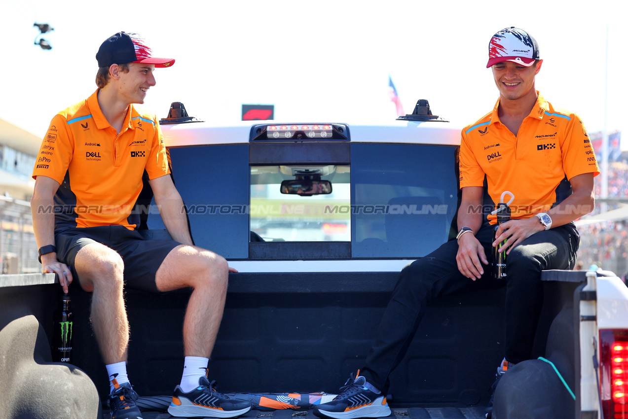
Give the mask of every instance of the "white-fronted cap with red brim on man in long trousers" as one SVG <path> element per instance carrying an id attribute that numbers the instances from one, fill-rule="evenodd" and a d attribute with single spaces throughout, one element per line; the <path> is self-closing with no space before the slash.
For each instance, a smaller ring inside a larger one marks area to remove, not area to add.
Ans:
<path id="1" fill-rule="evenodd" d="M 526 67 L 539 60 L 539 45 L 530 34 L 523 29 L 504 28 L 490 38 L 489 63 L 486 68 L 502 61 L 513 61 Z"/>

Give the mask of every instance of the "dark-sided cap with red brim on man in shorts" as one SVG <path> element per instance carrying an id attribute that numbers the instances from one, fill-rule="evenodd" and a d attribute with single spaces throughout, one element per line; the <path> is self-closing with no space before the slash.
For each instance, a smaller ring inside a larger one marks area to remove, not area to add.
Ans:
<path id="1" fill-rule="evenodd" d="M 153 50 L 146 46 L 146 41 L 136 33 L 118 32 L 100 45 L 96 60 L 99 67 L 112 64 L 143 63 L 156 67 L 171 67 L 173 58 L 157 58 Z"/>

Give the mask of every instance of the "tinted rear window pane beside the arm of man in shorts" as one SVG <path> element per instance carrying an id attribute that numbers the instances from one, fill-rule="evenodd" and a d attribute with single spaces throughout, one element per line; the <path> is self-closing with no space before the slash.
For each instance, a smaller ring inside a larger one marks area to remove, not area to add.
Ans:
<path id="1" fill-rule="evenodd" d="M 247 258 L 248 145 L 172 148 L 170 157 L 196 245 L 225 258 Z M 160 216 L 151 214 L 148 228 L 165 227 Z"/>

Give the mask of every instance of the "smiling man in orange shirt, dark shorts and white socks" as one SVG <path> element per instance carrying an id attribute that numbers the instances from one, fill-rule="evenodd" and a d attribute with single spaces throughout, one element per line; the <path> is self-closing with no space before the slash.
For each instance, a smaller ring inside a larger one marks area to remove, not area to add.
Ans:
<path id="1" fill-rule="evenodd" d="M 112 419 L 141 418 L 126 373 L 123 285 L 150 292 L 193 289 L 183 324 L 185 366 L 170 413 L 241 415 L 250 403 L 217 393 L 207 379 L 227 277 L 237 271 L 193 245 L 159 123 L 134 105 L 155 85 L 154 68 L 175 60 L 154 57 L 138 34 L 125 32 L 104 41 L 96 59 L 97 90 L 55 115 L 33 171 L 31 210 L 42 272 L 57 273 L 64 292 L 74 279 L 92 292 L 92 326 L 109 375 Z M 139 215 L 132 210 L 143 176 L 174 240 L 144 240 L 136 231 Z"/>

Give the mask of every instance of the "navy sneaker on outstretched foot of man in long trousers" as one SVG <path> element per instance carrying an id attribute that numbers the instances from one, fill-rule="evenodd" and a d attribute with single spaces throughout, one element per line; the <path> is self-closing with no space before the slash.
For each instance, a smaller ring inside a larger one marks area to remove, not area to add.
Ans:
<path id="1" fill-rule="evenodd" d="M 358 372 L 359 374 L 359 372 Z M 366 379 L 360 375 L 354 379 L 352 373 L 340 394 L 332 401 L 314 406 L 319 418 L 382 418 L 391 414 L 386 396 L 375 393 L 365 386 Z"/>

